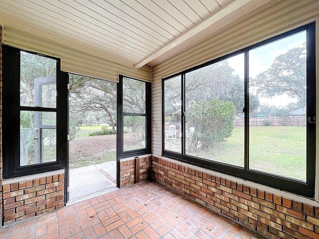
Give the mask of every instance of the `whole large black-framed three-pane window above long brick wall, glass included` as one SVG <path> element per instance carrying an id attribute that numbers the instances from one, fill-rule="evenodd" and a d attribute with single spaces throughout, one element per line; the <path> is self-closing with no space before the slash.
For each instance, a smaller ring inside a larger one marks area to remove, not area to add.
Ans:
<path id="1" fill-rule="evenodd" d="M 163 79 L 163 155 L 309 198 L 315 23 Z"/>

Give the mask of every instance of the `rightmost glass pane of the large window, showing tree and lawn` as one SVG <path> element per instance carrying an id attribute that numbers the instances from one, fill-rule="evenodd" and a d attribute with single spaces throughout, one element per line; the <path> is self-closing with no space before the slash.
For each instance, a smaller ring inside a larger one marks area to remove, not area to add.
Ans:
<path id="1" fill-rule="evenodd" d="M 306 31 L 249 51 L 249 169 L 306 181 Z M 251 104 L 251 101 L 250 101 Z"/>

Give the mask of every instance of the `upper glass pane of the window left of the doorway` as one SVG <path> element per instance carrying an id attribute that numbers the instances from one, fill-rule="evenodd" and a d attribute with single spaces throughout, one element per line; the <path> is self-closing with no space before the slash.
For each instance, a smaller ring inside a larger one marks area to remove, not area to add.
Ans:
<path id="1" fill-rule="evenodd" d="M 56 60 L 20 51 L 20 105 L 56 108 Z"/>

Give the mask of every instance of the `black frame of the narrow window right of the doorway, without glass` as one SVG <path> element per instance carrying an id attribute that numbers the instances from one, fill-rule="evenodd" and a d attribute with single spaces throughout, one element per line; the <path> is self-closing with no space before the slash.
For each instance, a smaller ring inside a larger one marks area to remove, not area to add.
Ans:
<path id="1" fill-rule="evenodd" d="M 150 154 L 152 147 L 152 83 L 145 82 L 145 113 L 125 113 L 123 112 L 123 77 L 136 81 L 141 81 L 132 77 L 119 75 L 119 83 L 117 84 L 117 145 L 118 145 L 118 158 L 126 158 L 132 156 L 139 156 L 143 154 Z M 145 122 L 145 136 L 146 147 L 141 149 L 124 151 L 124 116 L 143 116 Z"/>

